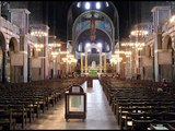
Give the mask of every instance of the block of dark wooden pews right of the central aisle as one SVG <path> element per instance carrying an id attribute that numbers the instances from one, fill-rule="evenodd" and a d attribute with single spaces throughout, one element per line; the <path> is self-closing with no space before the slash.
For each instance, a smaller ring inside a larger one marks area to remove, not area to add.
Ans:
<path id="1" fill-rule="evenodd" d="M 106 81 L 107 80 L 107 81 Z M 101 78 L 103 91 L 121 130 L 148 130 L 175 126 L 174 84 L 170 92 L 158 92 L 160 83 Z"/>

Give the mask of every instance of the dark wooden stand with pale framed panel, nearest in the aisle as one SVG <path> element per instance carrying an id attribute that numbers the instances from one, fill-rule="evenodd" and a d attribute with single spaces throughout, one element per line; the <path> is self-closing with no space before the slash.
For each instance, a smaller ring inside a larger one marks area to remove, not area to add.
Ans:
<path id="1" fill-rule="evenodd" d="M 65 118 L 84 119 L 86 118 L 86 94 L 80 85 L 72 85 L 65 93 Z"/>

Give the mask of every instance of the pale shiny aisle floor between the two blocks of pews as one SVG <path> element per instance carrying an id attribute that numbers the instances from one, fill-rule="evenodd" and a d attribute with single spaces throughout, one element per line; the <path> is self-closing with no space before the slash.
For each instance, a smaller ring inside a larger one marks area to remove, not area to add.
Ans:
<path id="1" fill-rule="evenodd" d="M 119 130 L 117 120 L 112 112 L 98 80 L 93 80 L 93 87 L 82 84 L 88 97 L 88 112 L 85 121 L 82 119 L 65 119 L 65 98 L 55 107 L 42 115 L 26 130 Z"/>

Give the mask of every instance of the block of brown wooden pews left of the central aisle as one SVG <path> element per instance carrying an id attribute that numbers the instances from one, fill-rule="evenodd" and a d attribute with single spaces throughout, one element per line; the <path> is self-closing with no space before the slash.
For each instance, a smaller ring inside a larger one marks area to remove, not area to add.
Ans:
<path id="1" fill-rule="evenodd" d="M 0 128 L 15 130 L 21 124 L 21 129 L 24 129 L 54 107 L 72 84 L 82 84 L 84 81 L 84 78 L 67 78 L 1 84 Z"/>

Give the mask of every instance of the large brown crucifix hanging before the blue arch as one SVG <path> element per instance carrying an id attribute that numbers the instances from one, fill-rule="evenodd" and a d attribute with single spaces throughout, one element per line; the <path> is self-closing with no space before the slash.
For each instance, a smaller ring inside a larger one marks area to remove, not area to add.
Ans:
<path id="1" fill-rule="evenodd" d="M 96 28 L 95 28 L 95 22 L 96 21 L 104 21 L 104 17 L 95 17 L 95 12 L 91 12 L 91 17 L 83 17 L 83 21 L 90 21 L 90 39 L 95 40 L 96 38 Z"/>

